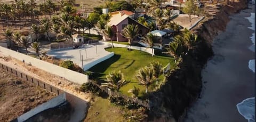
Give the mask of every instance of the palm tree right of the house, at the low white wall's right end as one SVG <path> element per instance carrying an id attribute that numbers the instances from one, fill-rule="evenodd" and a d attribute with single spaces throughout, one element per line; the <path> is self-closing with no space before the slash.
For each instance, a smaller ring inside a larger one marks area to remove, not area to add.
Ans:
<path id="1" fill-rule="evenodd" d="M 154 56 L 154 43 L 157 41 L 157 37 L 154 36 L 151 32 L 149 32 L 145 37 L 141 40 L 143 43 L 147 43 L 151 49 L 152 49 L 152 56 Z"/>

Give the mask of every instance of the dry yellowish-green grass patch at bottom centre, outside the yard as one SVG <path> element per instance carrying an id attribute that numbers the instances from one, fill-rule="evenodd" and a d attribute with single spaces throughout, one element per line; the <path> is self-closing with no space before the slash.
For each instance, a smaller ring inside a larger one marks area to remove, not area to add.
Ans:
<path id="1" fill-rule="evenodd" d="M 120 107 L 111 104 L 108 99 L 95 97 L 84 121 L 124 121 Z M 98 114 L 97 114 L 98 113 Z"/>

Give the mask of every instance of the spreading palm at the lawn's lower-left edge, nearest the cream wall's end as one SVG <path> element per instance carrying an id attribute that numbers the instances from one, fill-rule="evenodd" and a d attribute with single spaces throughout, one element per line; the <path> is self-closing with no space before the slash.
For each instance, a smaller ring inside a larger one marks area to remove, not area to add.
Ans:
<path id="1" fill-rule="evenodd" d="M 108 83 L 102 83 L 101 86 L 108 87 L 111 90 L 116 90 L 117 92 L 119 92 L 121 87 L 129 83 L 124 79 L 124 74 L 122 74 L 121 71 L 113 71 L 109 73 L 106 78 Z"/>

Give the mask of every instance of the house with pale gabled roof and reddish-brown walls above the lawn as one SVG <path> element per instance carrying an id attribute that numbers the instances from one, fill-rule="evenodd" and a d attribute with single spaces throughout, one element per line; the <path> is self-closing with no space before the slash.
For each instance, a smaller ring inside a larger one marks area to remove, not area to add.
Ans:
<path id="1" fill-rule="evenodd" d="M 130 12 L 127 12 L 127 13 L 130 13 Z M 127 38 L 125 38 L 121 35 L 122 30 L 127 25 L 132 25 L 132 24 L 138 25 L 139 34 L 142 36 L 146 35 L 149 32 L 149 30 L 150 30 L 149 28 L 145 27 L 144 25 L 141 25 L 138 21 L 132 19 L 130 17 L 131 14 L 127 15 L 127 13 L 120 14 L 120 12 L 118 11 L 118 12 L 112 12 L 112 14 L 110 14 L 111 18 L 107 25 L 110 26 L 115 32 L 115 36 L 112 38 L 112 40 L 117 40 L 117 42 L 128 41 Z M 134 14 L 132 14 L 132 15 L 134 15 Z M 106 38 L 105 38 L 105 40 L 106 40 Z"/>

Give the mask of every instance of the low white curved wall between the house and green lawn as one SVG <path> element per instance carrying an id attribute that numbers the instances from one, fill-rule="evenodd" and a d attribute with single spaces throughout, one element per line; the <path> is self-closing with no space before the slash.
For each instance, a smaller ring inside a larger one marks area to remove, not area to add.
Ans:
<path id="1" fill-rule="evenodd" d="M 105 45 L 111 45 L 111 43 L 109 42 L 102 42 L 102 41 L 99 41 L 99 43 L 101 44 L 105 44 Z M 115 47 L 124 47 L 124 48 L 130 48 L 130 45 L 124 45 L 124 44 L 116 44 L 116 43 L 113 43 L 113 45 Z M 151 48 L 146 48 L 146 47 L 139 47 L 139 46 L 131 46 L 131 48 L 133 50 L 139 50 L 139 51 L 143 51 L 143 52 L 147 52 L 149 54 L 152 54 L 152 49 Z M 155 50 L 153 48 L 153 55 L 155 55 Z"/>

